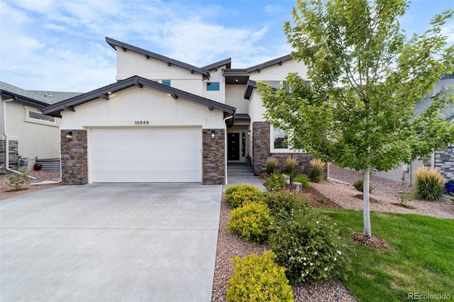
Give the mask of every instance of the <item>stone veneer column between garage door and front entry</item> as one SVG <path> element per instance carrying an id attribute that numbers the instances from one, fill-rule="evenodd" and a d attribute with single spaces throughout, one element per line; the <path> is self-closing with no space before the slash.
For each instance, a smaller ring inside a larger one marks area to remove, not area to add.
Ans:
<path id="1" fill-rule="evenodd" d="M 214 139 L 211 138 L 214 130 Z M 226 132 L 224 129 L 202 130 L 202 183 L 226 183 Z"/>

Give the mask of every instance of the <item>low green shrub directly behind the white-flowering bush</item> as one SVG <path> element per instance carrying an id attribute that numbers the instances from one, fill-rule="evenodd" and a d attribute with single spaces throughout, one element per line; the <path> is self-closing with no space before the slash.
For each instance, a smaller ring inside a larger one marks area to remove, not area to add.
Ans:
<path id="1" fill-rule="evenodd" d="M 272 216 L 279 219 L 288 219 L 299 212 L 306 211 L 308 201 L 291 191 L 267 192 L 262 201 L 270 208 Z"/>

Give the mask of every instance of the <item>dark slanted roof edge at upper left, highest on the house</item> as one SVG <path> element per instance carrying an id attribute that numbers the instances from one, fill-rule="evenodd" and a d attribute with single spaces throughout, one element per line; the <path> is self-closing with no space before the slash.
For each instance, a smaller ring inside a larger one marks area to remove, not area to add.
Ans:
<path id="1" fill-rule="evenodd" d="M 117 46 L 117 47 L 120 47 L 121 50 L 123 50 L 123 52 L 126 52 L 126 50 L 131 50 L 133 52 L 137 52 L 140 55 L 143 55 L 144 57 L 147 58 L 147 60 L 150 59 L 150 57 L 153 57 L 153 59 L 161 60 L 162 62 L 165 62 L 168 66 L 175 65 L 175 66 L 178 66 L 178 67 L 182 67 L 182 68 L 188 69 L 189 72 L 191 72 L 191 73 L 198 72 L 199 74 L 202 74 L 204 77 L 207 77 L 207 78 L 210 77 L 210 74 L 209 74 L 207 69 L 196 67 L 196 66 L 193 66 L 193 65 L 189 65 L 187 63 L 171 59 L 170 57 L 165 57 L 163 55 L 158 55 L 155 52 L 150 52 L 148 50 L 144 50 L 142 48 L 135 47 L 133 45 L 129 45 L 127 43 L 123 43 L 121 41 L 117 41 L 117 40 L 114 40 L 114 39 L 111 39 L 111 38 L 107 38 L 106 37 L 106 42 L 109 45 L 111 45 L 111 47 L 113 47 L 114 50 L 116 50 L 116 46 Z"/>

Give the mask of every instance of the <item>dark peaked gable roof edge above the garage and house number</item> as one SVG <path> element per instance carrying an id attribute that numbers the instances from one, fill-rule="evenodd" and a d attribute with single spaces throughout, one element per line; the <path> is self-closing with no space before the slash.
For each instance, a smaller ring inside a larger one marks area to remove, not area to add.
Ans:
<path id="1" fill-rule="evenodd" d="M 43 108 L 42 112 L 50 116 L 60 116 L 61 111 L 64 110 L 74 111 L 75 106 L 79 106 L 81 104 L 93 101 L 95 99 L 109 99 L 110 93 L 128 89 L 132 86 L 138 86 L 140 88 L 143 88 L 143 86 L 147 86 L 151 89 L 164 91 L 170 94 L 174 99 L 178 99 L 181 97 L 182 99 L 187 99 L 189 101 L 193 101 L 195 103 L 207 106 L 209 110 L 213 110 L 214 108 L 221 110 L 224 112 L 224 116 L 233 116 L 236 111 L 235 107 L 218 103 L 217 101 L 206 99 L 202 96 L 197 96 L 196 94 L 191 94 L 187 91 L 179 90 L 171 86 L 166 86 L 158 82 L 152 81 L 150 79 L 145 79 L 139 76 L 133 76 L 128 79 L 118 81 L 114 84 L 110 84 L 99 89 L 89 91 L 86 94 L 74 96 L 71 99 L 61 101 L 60 103 L 52 104 L 50 106 Z"/>

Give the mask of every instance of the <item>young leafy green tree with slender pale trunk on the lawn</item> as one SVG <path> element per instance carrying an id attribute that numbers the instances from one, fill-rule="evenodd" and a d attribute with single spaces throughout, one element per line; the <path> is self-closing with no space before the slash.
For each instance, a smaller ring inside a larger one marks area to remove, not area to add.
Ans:
<path id="1" fill-rule="evenodd" d="M 299 74 L 288 75 L 290 91 L 258 83 L 265 117 L 289 134 L 294 149 L 363 173 L 368 237 L 370 173 L 454 140 L 454 124 L 439 118 L 454 99 L 448 89 L 414 114 L 416 102 L 454 71 L 454 45 L 441 32 L 454 11 L 406 38 L 398 21 L 406 9 L 404 0 L 298 0 L 284 32 L 310 84 Z"/>

